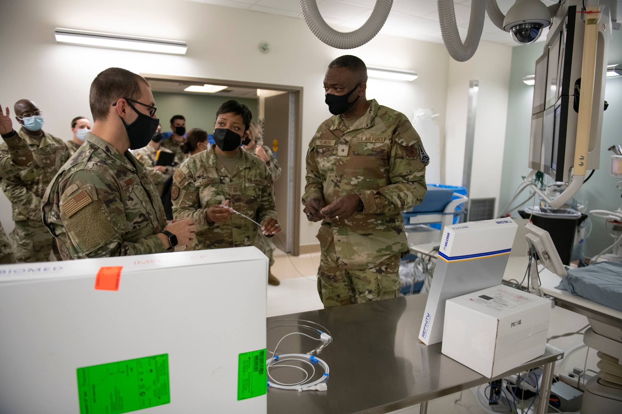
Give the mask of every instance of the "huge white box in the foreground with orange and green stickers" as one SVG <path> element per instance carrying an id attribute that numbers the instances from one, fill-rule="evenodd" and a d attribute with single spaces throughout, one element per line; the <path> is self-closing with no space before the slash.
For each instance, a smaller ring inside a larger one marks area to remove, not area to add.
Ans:
<path id="1" fill-rule="evenodd" d="M 123 266 L 118 290 L 95 289 L 108 266 Z M 0 413 L 80 413 L 90 397 L 78 395 L 78 369 L 123 362 L 106 369 L 140 380 L 152 364 L 168 378 L 170 403 L 146 414 L 265 414 L 265 394 L 238 400 L 238 368 L 239 354 L 266 348 L 267 267 L 255 247 L 0 265 Z M 164 354 L 168 372 L 145 359 Z M 265 367 L 252 355 L 251 370 Z M 136 405 L 136 393 L 98 389 L 95 377 L 93 394 L 110 407 L 88 412 Z M 156 388 L 139 403 L 160 397 Z"/>

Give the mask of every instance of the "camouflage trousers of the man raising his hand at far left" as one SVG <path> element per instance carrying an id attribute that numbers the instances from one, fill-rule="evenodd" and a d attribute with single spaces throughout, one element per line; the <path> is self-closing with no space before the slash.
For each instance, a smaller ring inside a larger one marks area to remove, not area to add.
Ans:
<path id="1" fill-rule="evenodd" d="M 18 262 L 47 262 L 52 251 L 57 260 L 62 260 L 52 234 L 42 222 L 16 221 L 11 239 Z"/>

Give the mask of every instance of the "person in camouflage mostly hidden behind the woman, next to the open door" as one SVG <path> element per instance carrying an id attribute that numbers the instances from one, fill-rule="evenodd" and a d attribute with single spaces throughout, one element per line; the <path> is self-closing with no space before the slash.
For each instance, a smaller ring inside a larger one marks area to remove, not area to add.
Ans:
<path id="1" fill-rule="evenodd" d="M 251 154 L 257 155 L 264 163 L 266 163 L 266 167 L 268 167 L 272 175 L 272 183 L 274 183 L 279 179 L 279 177 L 281 177 L 281 165 L 279 165 L 279 162 L 276 158 L 274 158 L 274 154 L 272 154 L 269 147 L 261 143 L 261 127 L 259 127 L 259 125 L 255 122 L 251 122 L 251 127 L 248 131 L 249 142 L 246 145 L 242 142 L 242 148 Z M 280 285 L 281 282 L 279 281 L 279 278 L 273 275 L 271 270 L 272 265 L 274 264 L 274 249 L 276 249 L 272 239 L 266 237 L 263 233 L 259 233 L 255 246 L 261 249 L 261 251 L 264 252 L 269 259 L 270 269 L 268 270 L 268 283 L 275 286 Z"/>

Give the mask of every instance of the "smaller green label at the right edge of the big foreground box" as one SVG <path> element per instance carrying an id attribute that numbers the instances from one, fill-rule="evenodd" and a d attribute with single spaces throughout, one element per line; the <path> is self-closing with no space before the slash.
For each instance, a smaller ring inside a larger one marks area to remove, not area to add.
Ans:
<path id="1" fill-rule="evenodd" d="M 266 349 L 238 356 L 238 401 L 267 393 Z"/>

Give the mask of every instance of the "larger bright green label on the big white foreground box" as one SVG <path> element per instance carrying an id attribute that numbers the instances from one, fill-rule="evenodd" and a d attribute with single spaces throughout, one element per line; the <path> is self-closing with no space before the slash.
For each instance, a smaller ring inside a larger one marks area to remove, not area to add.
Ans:
<path id="1" fill-rule="evenodd" d="M 80 414 L 121 414 L 170 403 L 169 354 L 78 368 L 77 374 Z"/>

